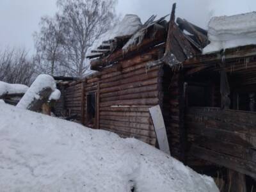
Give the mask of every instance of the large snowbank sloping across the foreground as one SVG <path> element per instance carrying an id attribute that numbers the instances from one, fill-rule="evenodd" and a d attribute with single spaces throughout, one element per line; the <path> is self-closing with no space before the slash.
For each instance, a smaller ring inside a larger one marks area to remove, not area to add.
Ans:
<path id="1" fill-rule="evenodd" d="M 218 191 L 163 152 L 0 103 L 1 191 Z"/>

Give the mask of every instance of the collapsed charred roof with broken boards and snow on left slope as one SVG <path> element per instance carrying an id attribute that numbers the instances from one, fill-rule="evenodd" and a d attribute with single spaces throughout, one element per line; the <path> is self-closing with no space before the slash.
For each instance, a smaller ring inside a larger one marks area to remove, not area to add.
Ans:
<path id="1" fill-rule="evenodd" d="M 170 21 L 165 17 L 155 20 L 156 15 L 141 24 L 136 15 L 125 15 L 124 19 L 112 30 L 102 35 L 90 48 L 86 58 L 91 59 L 92 70 L 102 68 L 131 56 L 132 52 L 143 52 L 150 47 L 164 44 L 166 52 L 162 60 L 153 65 L 166 63 L 170 66 L 192 58 L 209 44 L 207 31 L 184 19 L 175 20 L 175 4 Z"/>

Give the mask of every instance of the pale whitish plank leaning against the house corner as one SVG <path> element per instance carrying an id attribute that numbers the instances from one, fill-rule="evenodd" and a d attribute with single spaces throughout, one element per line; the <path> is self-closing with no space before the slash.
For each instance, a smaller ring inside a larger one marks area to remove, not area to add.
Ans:
<path id="1" fill-rule="evenodd" d="M 153 120 L 159 149 L 166 154 L 171 155 L 161 108 L 157 105 L 149 108 L 149 111 Z"/>

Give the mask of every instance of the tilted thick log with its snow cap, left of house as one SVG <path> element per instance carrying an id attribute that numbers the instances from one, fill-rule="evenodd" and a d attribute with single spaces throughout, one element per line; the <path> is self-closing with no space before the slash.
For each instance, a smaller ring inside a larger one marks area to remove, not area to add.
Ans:
<path id="1" fill-rule="evenodd" d="M 40 111 L 42 104 L 48 100 L 58 100 L 60 91 L 56 89 L 56 83 L 52 76 L 40 75 L 17 104 L 18 108 Z"/>

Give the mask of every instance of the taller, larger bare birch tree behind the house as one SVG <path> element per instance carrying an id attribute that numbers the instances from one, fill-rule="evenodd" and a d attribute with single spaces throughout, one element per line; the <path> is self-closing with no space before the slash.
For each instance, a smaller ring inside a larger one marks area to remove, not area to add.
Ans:
<path id="1" fill-rule="evenodd" d="M 81 77 L 88 68 L 88 48 L 113 26 L 116 0 L 58 0 L 57 4 L 65 26 L 63 48 L 69 71 Z"/>

